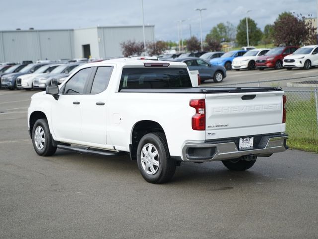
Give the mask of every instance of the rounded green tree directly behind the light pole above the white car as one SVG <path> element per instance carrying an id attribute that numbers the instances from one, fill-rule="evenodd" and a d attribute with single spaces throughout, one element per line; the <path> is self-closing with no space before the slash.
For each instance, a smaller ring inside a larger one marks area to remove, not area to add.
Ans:
<path id="1" fill-rule="evenodd" d="M 248 35 L 250 45 L 258 45 L 263 36 L 263 32 L 251 18 L 248 18 Z M 240 46 L 247 46 L 246 18 L 240 20 L 237 27 L 237 42 Z"/>

